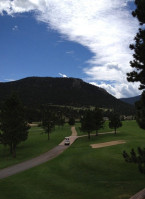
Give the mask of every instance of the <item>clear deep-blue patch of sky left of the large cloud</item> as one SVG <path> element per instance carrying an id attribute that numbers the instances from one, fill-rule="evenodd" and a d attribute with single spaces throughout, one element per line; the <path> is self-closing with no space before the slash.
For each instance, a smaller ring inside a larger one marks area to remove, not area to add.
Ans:
<path id="1" fill-rule="evenodd" d="M 84 78 L 92 53 L 76 42 L 69 42 L 58 32 L 38 22 L 33 14 L 0 16 L 0 80 L 27 76 Z"/>

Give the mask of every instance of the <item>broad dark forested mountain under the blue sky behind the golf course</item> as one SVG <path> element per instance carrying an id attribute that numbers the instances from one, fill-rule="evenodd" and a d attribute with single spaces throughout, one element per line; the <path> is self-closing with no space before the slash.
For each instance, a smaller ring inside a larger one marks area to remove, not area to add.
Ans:
<path id="1" fill-rule="evenodd" d="M 23 104 L 40 107 L 42 104 L 69 106 L 98 106 L 117 111 L 133 112 L 128 105 L 102 88 L 76 78 L 27 77 L 0 83 L 0 102 L 16 92 Z"/>

